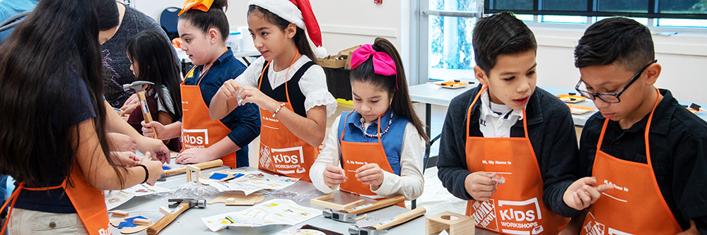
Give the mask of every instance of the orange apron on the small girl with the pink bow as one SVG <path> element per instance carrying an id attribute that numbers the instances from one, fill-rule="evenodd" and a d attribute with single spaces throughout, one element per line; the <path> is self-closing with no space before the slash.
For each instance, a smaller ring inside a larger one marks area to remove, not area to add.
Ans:
<path id="1" fill-rule="evenodd" d="M 370 191 L 370 186 L 365 185 L 356 180 L 356 169 L 363 167 L 365 164 L 375 163 L 378 167 L 384 171 L 393 173 L 393 169 L 390 167 L 387 155 L 385 155 L 385 149 L 380 141 L 380 116 L 378 116 L 378 143 L 356 143 L 344 141 L 344 133 L 346 130 L 346 119 L 349 115 L 353 114 L 351 112 L 344 117 L 344 130 L 341 130 L 341 168 L 346 172 L 346 182 L 341 183 L 339 189 L 344 192 L 353 193 L 356 195 L 361 195 L 366 198 L 373 198 L 376 200 L 384 199 L 381 196 Z M 384 114 L 381 114 L 385 115 Z M 405 203 L 397 203 L 400 207 L 405 207 Z"/>

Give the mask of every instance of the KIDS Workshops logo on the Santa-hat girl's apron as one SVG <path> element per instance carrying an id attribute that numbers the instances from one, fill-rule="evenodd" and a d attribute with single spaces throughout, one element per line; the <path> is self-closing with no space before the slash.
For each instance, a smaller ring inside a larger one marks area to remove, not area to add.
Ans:
<path id="1" fill-rule="evenodd" d="M 278 173 L 304 173 L 306 169 L 300 166 L 304 163 L 302 146 L 271 148 L 263 145 L 260 148 L 260 165 L 264 168 L 274 169 Z M 271 164 L 274 167 L 271 167 Z"/>

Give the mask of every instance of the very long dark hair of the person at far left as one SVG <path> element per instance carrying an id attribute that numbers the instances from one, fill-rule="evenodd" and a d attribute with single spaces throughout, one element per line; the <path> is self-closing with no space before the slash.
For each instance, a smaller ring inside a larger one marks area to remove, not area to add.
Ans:
<path id="1" fill-rule="evenodd" d="M 117 15 L 98 6 L 110 4 L 116 6 L 114 0 L 40 1 L 0 46 L 0 174 L 28 186 L 48 186 L 59 167 L 72 185 L 76 150 L 86 143 L 79 143 L 78 125 L 72 123 L 76 114 L 67 110 L 93 108 L 95 150 L 103 150 L 123 185 L 124 168 L 109 157 L 104 128 L 98 32 L 117 26 L 117 20 L 103 20 Z M 77 83 L 86 84 L 86 91 L 66 90 Z M 80 92 L 88 92 L 90 103 L 81 102 Z"/>

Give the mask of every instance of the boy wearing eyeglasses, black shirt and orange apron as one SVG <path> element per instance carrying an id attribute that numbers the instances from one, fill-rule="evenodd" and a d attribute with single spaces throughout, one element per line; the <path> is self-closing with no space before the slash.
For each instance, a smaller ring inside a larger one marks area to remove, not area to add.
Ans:
<path id="1" fill-rule="evenodd" d="M 653 85 L 661 67 L 648 28 L 600 20 L 579 40 L 575 66 L 575 89 L 600 111 L 582 131 L 582 167 L 614 186 L 581 234 L 707 234 L 707 123 Z"/>

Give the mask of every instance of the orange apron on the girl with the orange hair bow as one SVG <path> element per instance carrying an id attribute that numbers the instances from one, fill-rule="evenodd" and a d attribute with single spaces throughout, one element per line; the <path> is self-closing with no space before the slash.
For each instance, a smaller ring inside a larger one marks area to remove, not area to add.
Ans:
<path id="1" fill-rule="evenodd" d="M 189 70 L 185 80 L 194 77 L 194 67 Z M 180 84 L 182 90 L 182 152 L 194 147 L 206 148 L 214 145 L 219 140 L 226 138 L 231 131 L 221 121 L 211 120 L 209 117 L 209 107 L 204 103 L 201 89 L 199 89 L 199 83 L 207 72 L 209 72 L 208 69 L 201 73 L 197 85 L 185 85 L 184 81 Z M 237 167 L 235 159 L 235 152 L 221 157 L 223 164 L 232 168 Z"/>

